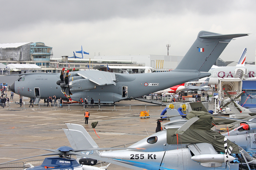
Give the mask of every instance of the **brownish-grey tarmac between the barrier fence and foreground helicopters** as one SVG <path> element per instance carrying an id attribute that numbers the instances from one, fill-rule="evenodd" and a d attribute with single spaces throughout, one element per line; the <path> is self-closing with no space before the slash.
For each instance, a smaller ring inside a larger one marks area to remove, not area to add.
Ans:
<path id="1" fill-rule="evenodd" d="M 17 95 L 16 95 L 17 96 Z M 138 101 L 122 101 L 137 103 Z M 141 103 L 141 102 L 140 102 Z M 211 107 L 211 106 L 209 106 Z M 99 147 L 113 147 L 129 144 L 144 139 L 155 133 L 157 118 L 139 118 L 140 111 L 90 111 L 89 123 L 84 124 L 84 111 L 72 110 L 21 110 L 0 108 L 0 147 L 37 147 L 57 149 L 61 146 L 70 146 L 62 130 L 67 128 L 65 123 L 82 125 L 95 140 Z M 161 111 L 150 111 L 150 115 L 160 115 Z M 134 119 L 120 119 L 135 117 Z M 95 128 L 91 122 L 99 121 Z M 167 121 L 162 122 L 162 125 Z M 0 163 L 48 153 L 45 150 L 32 149 L 1 149 Z M 44 159 L 35 157 L 28 160 Z M 106 164 L 104 164 L 106 165 Z M 108 170 L 127 170 L 128 168 L 111 164 Z"/>

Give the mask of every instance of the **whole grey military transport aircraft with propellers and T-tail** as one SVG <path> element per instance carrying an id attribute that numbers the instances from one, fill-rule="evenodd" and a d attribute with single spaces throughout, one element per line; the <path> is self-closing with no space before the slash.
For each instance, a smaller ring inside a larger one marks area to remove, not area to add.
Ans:
<path id="1" fill-rule="evenodd" d="M 177 68 L 152 74 L 119 74 L 105 71 L 73 71 L 59 74 L 24 74 L 11 85 L 11 90 L 30 98 L 46 99 L 55 95 L 79 101 L 81 98 L 100 99 L 115 103 L 160 91 L 183 82 L 207 77 L 207 73 L 227 44 L 248 34 L 217 34 L 200 31 L 197 39 Z M 65 75 L 65 78 L 63 78 Z M 57 82 L 57 83 L 56 83 Z M 61 93 L 62 92 L 62 93 Z M 72 94 L 72 95 L 71 95 Z"/>

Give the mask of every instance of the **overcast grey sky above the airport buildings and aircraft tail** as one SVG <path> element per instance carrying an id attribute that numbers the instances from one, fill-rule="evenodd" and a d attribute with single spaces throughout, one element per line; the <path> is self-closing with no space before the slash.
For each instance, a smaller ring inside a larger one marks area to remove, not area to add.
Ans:
<path id="1" fill-rule="evenodd" d="M 0 0 L 0 43 L 44 42 L 53 57 L 184 56 L 201 30 L 248 33 L 221 59 L 255 61 L 256 0 Z M 81 56 L 81 54 L 77 54 Z"/>

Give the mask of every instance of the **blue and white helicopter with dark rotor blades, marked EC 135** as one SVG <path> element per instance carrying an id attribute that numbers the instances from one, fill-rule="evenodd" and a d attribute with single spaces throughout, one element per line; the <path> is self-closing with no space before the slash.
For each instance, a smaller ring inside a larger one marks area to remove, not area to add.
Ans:
<path id="1" fill-rule="evenodd" d="M 142 168 L 133 167 L 131 165 L 113 161 L 111 159 L 105 159 L 105 158 L 95 157 L 95 156 L 89 156 L 94 159 L 90 159 L 90 158 L 79 159 L 79 163 L 78 163 L 78 161 L 76 161 L 76 159 L 74 159 L 74 158 L 71 158 L 71 156 L 72 155 L 83 156 L 82 153 L 84 150 L 74 150 L 72 147 L 68 147 L 68 146 L 59 147 L 57 150 L 32 148 L 32 147 L 1 147 L 0 149 L 6 149 L 6 148 L 8 148 L 8 149 L 38 149 L 38 150 L 47 150 L 47 151 L 52 152 L 52 153 L 37 155 L 37 156 L 52 156 L 52 157 L 45 158 L 43 163 L 38 166 L 33 166 L 32 164 L 29 164 L 30 167 L 25 168 L 24 170 L 46 170 L 46 169 L 50 169 L 50 170 L 106 170 L 105 168 L 107 168 L 111 163 L 121 165 L 124 167 L 128 167 L 128 168 L 131 168 L 134 170 L 143 170 Z M 105 149 L 110 149 L 110 148 L 105 148 Z M 113 148 L 111 148 L 111 149 L 113 149 Z M 119 149 L 119 148 L 115 148 L 115 149 Z M 136 148 L 134 148 L 134 149 L 136 150 Z M 53 156 L 53 155 L 58 155 L 58 156 Z M 37 156 L 29 156 L 29 157 L 21 158 L 21 159 L 28 159 L 28 158 L 33 158 L 33 157 L 37 157 Z M 97 160 L 95 158 L 97 158 Z M 9 162 L 18 161 L 21 159 L 7 161 L 7 162 L 3 162 L 0 164 L 6 164 Z M 106 166 L 102 166 L 102 167 L 91 166 L 91 165 L 95 165 L 98 160 L 106 161 L 109 164 Z M 28 164 L 25 164 L 25 165 L 28 165 Z"/>

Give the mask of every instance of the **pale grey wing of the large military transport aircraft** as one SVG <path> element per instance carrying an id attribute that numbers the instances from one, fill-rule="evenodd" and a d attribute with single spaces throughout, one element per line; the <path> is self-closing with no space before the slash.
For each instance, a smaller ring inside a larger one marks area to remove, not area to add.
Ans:
<path id="1" fill-rule="evenodd" d="M 116 85 L 116 76 L 114 73 L 90 70 L 79 72 L 78 75 L 84 79 L 89 79 L 97 85 Z"/>

